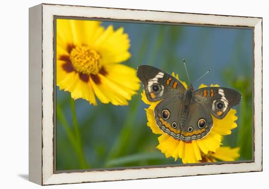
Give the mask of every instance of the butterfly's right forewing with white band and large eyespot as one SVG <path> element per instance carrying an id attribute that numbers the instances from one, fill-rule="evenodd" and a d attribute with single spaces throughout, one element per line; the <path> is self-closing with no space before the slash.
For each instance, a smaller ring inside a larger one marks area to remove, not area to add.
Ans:
<path id="1" fill-rule="evenodd" d="M 195 91 L 195 98 L 216 118 L 223 119 L 232 106 L 240 103 L 241 94 L 224 87 L 203 87 Z"/>

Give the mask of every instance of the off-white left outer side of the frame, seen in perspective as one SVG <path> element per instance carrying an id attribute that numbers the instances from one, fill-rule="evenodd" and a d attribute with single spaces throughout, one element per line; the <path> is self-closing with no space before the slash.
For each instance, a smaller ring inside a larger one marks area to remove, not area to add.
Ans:
<path id="1" fill-rule="evenodd" d="M 42 185 L 42 4 L 29 8 L 29 181 Z"/>

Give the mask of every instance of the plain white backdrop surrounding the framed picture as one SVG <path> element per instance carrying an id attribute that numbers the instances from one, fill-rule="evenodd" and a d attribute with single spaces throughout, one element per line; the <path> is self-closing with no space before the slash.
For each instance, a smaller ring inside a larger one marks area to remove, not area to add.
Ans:
<path id="1" fill-rule="evenodd" d="M 28 181 L 28 8 L 44 3 L 263 17 L 263 172 L 48 186 L 46 188 L 257 188 L 269 178 L 269 11 L 262 0 L 6 0 L 0 5 L 0 186 L 41 188 Z"/>

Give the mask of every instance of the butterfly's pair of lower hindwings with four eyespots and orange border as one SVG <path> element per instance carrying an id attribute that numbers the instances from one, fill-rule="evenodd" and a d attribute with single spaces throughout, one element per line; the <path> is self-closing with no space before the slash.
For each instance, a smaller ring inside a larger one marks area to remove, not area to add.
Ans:
<path id="1" fill-rule="evenodd" d="M 154 109 L 157 126 L 176 140 L 188 142 L 202 139 L 213 126 L 210 112 L 198 102 L 192 104 L 186 122 L 181 128 L 180 119 L 184 119 L 182 103 L 176 97 L 162 100 Z"/>

